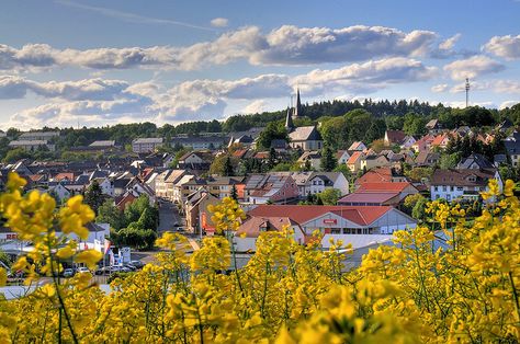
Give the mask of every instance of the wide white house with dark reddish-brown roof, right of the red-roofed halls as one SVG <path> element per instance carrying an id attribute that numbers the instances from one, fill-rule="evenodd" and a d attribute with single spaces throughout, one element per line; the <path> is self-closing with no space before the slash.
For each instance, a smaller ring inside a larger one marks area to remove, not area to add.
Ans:
<path id="1" fill-rule="evenodd" d="M 431 176 L 431 199 L 444 198 L 448 202 L 454 199 L 477 200 L 481 192 L 487 191 L 487 185 L 491 179 L 496 179 L 499 187 L 502 187 L 500 174 L 495 169 L 438 169 Z"/>

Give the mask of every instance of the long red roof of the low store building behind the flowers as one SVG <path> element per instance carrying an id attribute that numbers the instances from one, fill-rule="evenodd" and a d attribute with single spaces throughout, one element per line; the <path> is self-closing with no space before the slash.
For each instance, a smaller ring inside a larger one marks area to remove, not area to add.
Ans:
<path id="1" fill-rule="evenodd" d="M 360 226 L 368 226 L 392 209 L 389 206 L 317 206 L 317 205 L 260 205 L 250 216 L 287 217 L 302 225 L 327 213 L 334 213 Z"/>

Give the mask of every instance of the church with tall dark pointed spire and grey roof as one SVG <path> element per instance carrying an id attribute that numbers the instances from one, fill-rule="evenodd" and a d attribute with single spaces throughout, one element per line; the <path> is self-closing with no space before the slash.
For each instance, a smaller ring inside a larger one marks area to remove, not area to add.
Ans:
<path id="1" fill-rule="evenodd" d="M 287 116 L 285 118 L 285 129 L 289 133 L 291 148 L 303 150 L 320 150 L 324 147 L 324 140 L 319 135 L 315 125 L 295 127 L 294 119 L 303 117 L 302 102 L 299 100 L 299 90 L 296 93 L 296 106 L 287 107 Z"/>

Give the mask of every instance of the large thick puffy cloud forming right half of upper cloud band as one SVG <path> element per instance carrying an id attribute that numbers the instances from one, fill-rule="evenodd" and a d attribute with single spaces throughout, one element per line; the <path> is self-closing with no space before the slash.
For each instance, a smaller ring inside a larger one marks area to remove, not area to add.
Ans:
<path id="1" fill-rule="evenodd" d="M 257 65 L 309 65 L 426 55 L 436 39 L 437 34 L 430 31 L 405 33 L 384 26 L 334 30 L 284 25 L 265 36 L 265 48 L 255 51 L 250 61 Z"/>

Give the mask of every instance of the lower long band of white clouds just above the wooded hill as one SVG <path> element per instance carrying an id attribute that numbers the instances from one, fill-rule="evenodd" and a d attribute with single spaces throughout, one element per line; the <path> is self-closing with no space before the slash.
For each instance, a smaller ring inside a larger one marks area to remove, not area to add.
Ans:
<path id="1" fill-rule="evenodd" d="M 70 125 L 78 117 L 91 123 L 139 119 L 183 122 L 223 118 L 231 101 L 249 102 L 245 112 L 259 112 L 265 99 L 281 99 L 299 87 L 307 96 L 330 91 L 351 94 L 369 93 L 391 84 L 429 80 L 433 67 L 409 58 L 389 58 L 342 68 L 316 69 L 304 74 L 260 74 L 237 80 L 199 79 L 181 82 L 165 90 L 155 82 L 128 84 L 118 80 L 87 79 L 68 82 L 35 82 L 20 77 L 0 78 L 0 98 L 23 98 L 27 92 L 55 100 L 16 113 L 11 123 L 32 127 L 50 121 Z"/>

